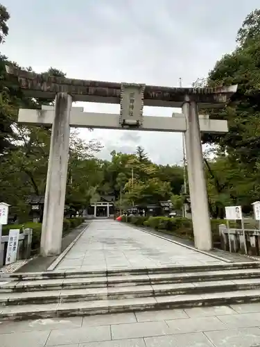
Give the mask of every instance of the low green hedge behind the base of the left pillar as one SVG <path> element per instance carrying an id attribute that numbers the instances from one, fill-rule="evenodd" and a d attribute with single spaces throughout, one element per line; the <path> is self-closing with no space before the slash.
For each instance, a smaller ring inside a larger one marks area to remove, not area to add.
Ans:
<path id="1" fill-rule="evenodd" d="M 83 221 L 83 217 L 64 219 L 62 236 L 67 235 L 69 233 L 69 230 L 80 226 Z M 8 235 L 10 229 L 20 229 L 20 232 L 23 232 L 23 229 L 26 228 L 33 229 L 32 251 L 34 251 L 35 253 L 35 251 L 40 248 L 42 223 L 33 223 L 29 221 L 24 224 L 9 224 L 7 226 L 3 226 L 2 235 Z"/>

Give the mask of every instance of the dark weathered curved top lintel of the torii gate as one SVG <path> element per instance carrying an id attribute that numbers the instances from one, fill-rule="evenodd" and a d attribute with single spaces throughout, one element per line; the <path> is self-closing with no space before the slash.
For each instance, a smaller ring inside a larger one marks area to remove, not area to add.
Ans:
<path id="1" fill-rule="evenodd" d="M 35 74 L 13 66 L 6 66 L 6 71 L 12 78 L 15 78 L 21 90 L 29 97 L 54 99 L 55 94 L 58 92 L 67 92 L 73 96 L 73 101 L 120 103 L 121 83 Z M 214 88 L 146 85 L 144 89 L 144 105 L 180 108 L 184 101 L 192 99 L 198 102 L 200 108 L 218 108 L 223 107 L 229 101 L 236 89 L 236 85 Z"/>

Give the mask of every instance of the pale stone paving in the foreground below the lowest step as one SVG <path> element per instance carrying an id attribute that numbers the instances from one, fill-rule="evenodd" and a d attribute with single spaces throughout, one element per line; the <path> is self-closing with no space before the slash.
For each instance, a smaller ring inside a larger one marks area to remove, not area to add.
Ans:
<path id="1" fill-rule="evenodd" d="M 260 303 L 0 322 L 1 347 L 257 347 Z"/>

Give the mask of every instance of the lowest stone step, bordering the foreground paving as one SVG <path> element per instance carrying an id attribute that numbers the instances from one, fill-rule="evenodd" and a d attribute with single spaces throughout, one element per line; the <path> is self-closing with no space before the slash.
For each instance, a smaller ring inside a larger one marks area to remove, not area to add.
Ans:
<path id="1" fill-rule="evenodd" d="M 208 294 L 184 294 L 115 300 L 50 303 L 43 305 L 15 305 L 0 307 L 0 319 L 42 319 L 60 316 L 83 316 L 101 313 L 164 310 L 209 305 L 230 305 L 260 301 L 258 289 L 225 291 Z"/>

